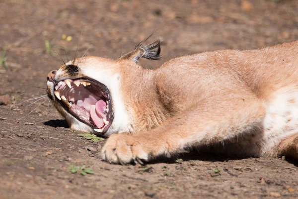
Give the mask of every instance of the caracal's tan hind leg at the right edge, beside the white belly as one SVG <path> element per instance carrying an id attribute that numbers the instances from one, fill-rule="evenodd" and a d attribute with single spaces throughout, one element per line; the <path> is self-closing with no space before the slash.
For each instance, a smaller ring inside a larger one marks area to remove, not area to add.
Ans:
<path id="1" fill-rule="evenodd" d="M 279 156 L 291 156 L 298 160 L 298 133 L 284 139 L 277 150 Z"/>

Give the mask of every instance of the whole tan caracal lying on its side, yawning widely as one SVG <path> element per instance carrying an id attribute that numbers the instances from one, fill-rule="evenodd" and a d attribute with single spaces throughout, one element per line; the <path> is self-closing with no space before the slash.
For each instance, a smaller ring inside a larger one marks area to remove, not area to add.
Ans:
<path id="1" fill-rule="evenodd" d="M 160 41 L 118 60 L 76 58 L 47 76 L 72 129 L 110 137 L 102 158 L 143 163 L 188 147 L 298 158 L 298 42 L 160 58 Z"/>

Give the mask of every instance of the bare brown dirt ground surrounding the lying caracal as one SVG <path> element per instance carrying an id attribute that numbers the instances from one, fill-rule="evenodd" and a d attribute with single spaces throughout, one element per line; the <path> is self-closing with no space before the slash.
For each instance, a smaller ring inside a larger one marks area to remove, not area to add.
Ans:
<path id="1" fill-rule="evenodd" d="M 163 58 L 141 61 L 153 68 L 183 54 L 298 39 L 297 0 L 0 0 L 0 7 L 0 103 L 7 103 L 0 105 L 0 198 L 298 198 L 291 159 L 193 152 L 110 165 L 99 156 L 105 141 L 78 136 L 47 98 L 25 101 L 45 93 L 47 73 L 62 64 L 56 52 L 72 59 L 77 47 L 78 56 L 117 59 L 155 31 Z M 94 174 L 72 174 L 72 165 Z"/>

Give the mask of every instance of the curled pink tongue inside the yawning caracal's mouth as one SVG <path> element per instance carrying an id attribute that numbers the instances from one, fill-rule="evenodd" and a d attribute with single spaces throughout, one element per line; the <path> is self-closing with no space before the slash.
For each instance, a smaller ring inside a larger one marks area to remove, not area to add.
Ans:
<path id="1" fill-rule="evenodd" d="M 97 128 L 102 128 L 104 126 L 104 122 L 102 118 L 107 118 L 104 115 L 104 111 L 107 108 L 106 103 L 104 100 L 99 100 L 96 102 L 95 105 L 90 106 L 90 116 L 94 122 L 94 124 L 97 126 Z"/>

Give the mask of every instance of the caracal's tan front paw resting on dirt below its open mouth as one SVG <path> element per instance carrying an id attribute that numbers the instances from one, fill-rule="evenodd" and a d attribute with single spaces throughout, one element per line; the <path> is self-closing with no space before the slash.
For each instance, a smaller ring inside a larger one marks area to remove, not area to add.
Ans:
<path id="1" fill-rule="evenodd" d="M 133 135 L 113 134 L 102 148 L 102 159 L 109 163 L 122 165 L 133 161 L 136 164 L 143 164 L 142 160 L 149 160 L 150 152 L 144 148 L 144 141 L 146 142 L 146 140 Z"/>

